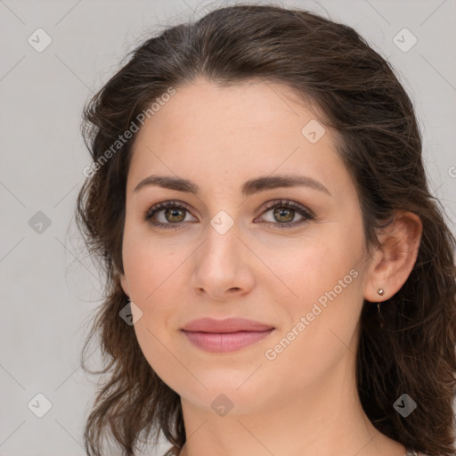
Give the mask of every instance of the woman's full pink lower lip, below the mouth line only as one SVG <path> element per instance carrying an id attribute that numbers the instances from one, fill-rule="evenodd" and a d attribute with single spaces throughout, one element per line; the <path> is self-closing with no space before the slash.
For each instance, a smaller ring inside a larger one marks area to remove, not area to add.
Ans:
<path id="1" fill-rule="evenodd" d="M 213 353 L 234 352 L 240 350 L 244 346 L 250 346 L 264 339 L 273 332 L 265 331 L 239 331 L 239 332 L 193 332 L 183 331 L 185 336 L 189 338 L 194 346 L 198 346 L 202 350 Z"/>

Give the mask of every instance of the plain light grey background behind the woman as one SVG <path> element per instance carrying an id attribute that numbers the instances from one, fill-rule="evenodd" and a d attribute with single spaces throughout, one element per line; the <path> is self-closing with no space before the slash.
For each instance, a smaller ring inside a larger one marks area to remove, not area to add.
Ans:
<path id="1" fill-rule="evenodd" d="M 96 377 L 85 377 L 79 354 L 102 296 L 71 222 L 90 163 L 79 134 L 85 102 L 151 30 L 234 3 L 0 0 L 0 455 L 85 454 Z M 431 188 L 456 232 L 456 2 L 281 4 L 354 27 L 391 61 L 415 102 Z M 28 43 L 45 43 L 37 28 L 52 38 L 41 53 Z M 403 28 L 418 39 L 408 52 L 393 42 Z M 90 360 L 96 368 L 96 349 Z M 52 403 L 42 418 L 31 411 L 45 410 L 37 394 Z"/>

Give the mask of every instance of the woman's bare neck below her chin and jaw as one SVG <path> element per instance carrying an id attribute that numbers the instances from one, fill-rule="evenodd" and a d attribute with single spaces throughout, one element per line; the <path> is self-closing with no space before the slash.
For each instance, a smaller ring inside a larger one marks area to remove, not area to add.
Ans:
<path id="1" fill-rule="evenodd" d="M 405 447 L 362 410 L 351 372 L 339 362 L 327 378 L 248 414 L 218 416 L 182 397 L 187 442 L 180 456 L 404 456 Z"/>

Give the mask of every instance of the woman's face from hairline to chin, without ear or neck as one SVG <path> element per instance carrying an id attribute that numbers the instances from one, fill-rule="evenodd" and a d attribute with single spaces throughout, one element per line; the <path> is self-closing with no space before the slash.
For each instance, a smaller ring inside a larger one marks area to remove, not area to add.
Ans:
<path id="1" fill-rule="evenodd" d="M 142 183 L 151 175 L 198 193 Z M 266 185 L 278 176 L 314 184 Z M 145 219 L 165 201 L 173 208 Z M 359 201 L 330 131 L 287 86 L 198 79 L 137 133 L 121 281 L 143 354 L 189 403 L 265 411 L 318 391 L 337 369 L 353 372 L 362 245 Z M 203 317 L 273 330 L 250 333 L 247 346 L 206 334 L 201 347 L 182 329 Z"/>

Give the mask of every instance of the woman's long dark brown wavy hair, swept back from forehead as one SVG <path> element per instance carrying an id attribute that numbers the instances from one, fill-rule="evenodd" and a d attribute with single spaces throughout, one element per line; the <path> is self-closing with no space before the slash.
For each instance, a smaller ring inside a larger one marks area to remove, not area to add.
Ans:
<path id="1" fill-rule="evenodd" d="M 383 328 L 376 306 L 364 302 L 356 380 L 362 407 L 379 432 L 431 456 L 454 455 L 456 240 L 428 189 L 413 105 L 391 65 L 354 28 L 311 12 L 252 4 L 168 27 L 127 57 L 85 106 L 83 134 L 94 163 L 169 87 L 178 90 L 196 77 L 218 85 L 278 82 L 313 102 L 321 110 L 315 117 L 338 135 L 370 251 L 379 247 L 376 228 L 391 223 L 395 209 L 420 217 L 418 258 L 402 289 L 382 304 Z M 82 352 L 85 371 L 106 376 L 85 423 L 90 456 L 102 455 L 105 437 L 126 456 L 150 436 L 159 442 L 160 433 L 175 450 L 186 440 L 179 395 L 151 369 L 134 327 L 119 317 L 127 303 L 118 273 L 133 143 L 134 136 L 122 143 L 77 197 L 77 225 L 106 276 Z M 85 366 L 95 334 L 106 362 L 102 371 Z M 418 403 L 407 418 L 393 407 L 403 393 Z"/>

